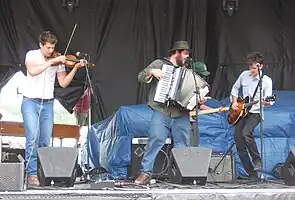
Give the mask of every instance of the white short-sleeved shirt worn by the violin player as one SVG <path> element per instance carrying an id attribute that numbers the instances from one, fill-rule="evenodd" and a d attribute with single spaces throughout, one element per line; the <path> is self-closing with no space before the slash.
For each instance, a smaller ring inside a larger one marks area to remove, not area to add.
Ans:
<path id="1" fill-rule="evenodd" d="M 46 62 L 40 49 L 29 51 L 25 58 L 25 62 L 28 61 L 33 61 L 38 65 L 42 65 Z M 23 87 L 23 95 L 29 98 L 52 99 L 56 73 L 63 71 L 65 71 L 65 66 L 59 65 L 49 66 L 37 76 L 31 76 L 29 72 L 27 72 L 25 85 Z"/>

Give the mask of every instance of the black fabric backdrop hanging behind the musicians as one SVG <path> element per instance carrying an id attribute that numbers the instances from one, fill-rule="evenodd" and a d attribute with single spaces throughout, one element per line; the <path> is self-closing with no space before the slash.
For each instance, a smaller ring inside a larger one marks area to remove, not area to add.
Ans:
<path id="1" fill-rule="evenodd" d="M 88 53 L 96 64 L 93 122 L 122 105 L 145 103 L 148 87 L 137 83 L 137 73 L 167 56 L 175 40 L 189 41 L 193 58 L 207 64 L 215 98 L 228 96 L 252 51 L 264 53 L 275 89 L 294 90 L 295 1 L 240 0 L 232 17 L 221 5 L 221 0 L 80 0 L 70 13 L 61 0 L 1 0 L 0 79 L 5 83 L 24 70 L 25 54 L 38 48 L 42 30 L 57 35 L 63 53 L 78 23 L 68 53 Z M 80 70 L 70 87 L 56 85 L 56 98 L 69 112 L 84 84 L 85 70 Z"/>

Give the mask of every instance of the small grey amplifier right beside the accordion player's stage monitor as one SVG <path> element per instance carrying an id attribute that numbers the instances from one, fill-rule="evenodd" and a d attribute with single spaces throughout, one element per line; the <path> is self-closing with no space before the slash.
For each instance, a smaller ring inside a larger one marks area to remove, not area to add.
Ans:
<path id="1" fill-rule="evenodd" d="M 211 182 L 211 183 L 212 182 L 214 183 L 222 183 L 222 182 L 234 183 L 235 182 L 236 170 L 235 170 L 234 154 L 227 154 L 224 157 L 224 159 L 223 159 L 223 156 L 224 156 L 224 153 L 219 153 L 219 152 L 212 153 L 210 165 L 209 165 L 209 172 L 207 175 L 207 182 Z"/>

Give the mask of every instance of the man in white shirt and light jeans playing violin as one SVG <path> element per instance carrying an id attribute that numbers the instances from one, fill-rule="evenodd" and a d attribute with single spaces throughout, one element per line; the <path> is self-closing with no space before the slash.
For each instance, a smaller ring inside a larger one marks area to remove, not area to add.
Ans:
<path id="1" fill-rule="evenodd" d="M 53 91 L 55 77 L 61 87 L 67 87 L 77 70 L 85 65 L 83 60 L 66 73 L 65 56 L 52 58 L 57 38 L 50 31 L 39 36 L 39 49 L 26 54 L 27 77 L 24 84 L 21 112 L 26 136 L 26 172 L 28 186 L 39 186 L 37 178 L 37 149 L 47 147 L 53 130 Z"/>

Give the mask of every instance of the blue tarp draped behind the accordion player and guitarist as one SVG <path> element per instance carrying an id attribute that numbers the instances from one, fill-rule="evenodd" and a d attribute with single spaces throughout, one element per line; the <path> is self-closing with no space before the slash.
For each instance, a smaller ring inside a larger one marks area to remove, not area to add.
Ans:
<path id="1" fill-rule="evenodd" d="M 272 178 L 272 170 L 277 163 L 285 162 L 288 153 L 295 146 L 295 92 L 275 91 L 276 103 L 264 108 L 264 171 L 266 178 Z M 208 106 L 229 106 L 229 99 L 206 102 Z M 127 176 L 127 166 L 131 161 L 131 141 L 133 137 L 147 137 L 152 117 L 147 105 L 122 106 L 113 116 L 94 124 L 89 132 L 90 160 L 93 165 L 105 168 L 114 179 Z M 200 146 L 216 152 L 225 152 L 234 142 L 233 126 L 227 122 L 226 113 L 201 115 Z M 255 129 L 255 140 L 260 151 L 260 126 Z M 236 153 L 236 147 L 232 149 Z M 236 155 L 239 176 L 246 173 Z"/>

